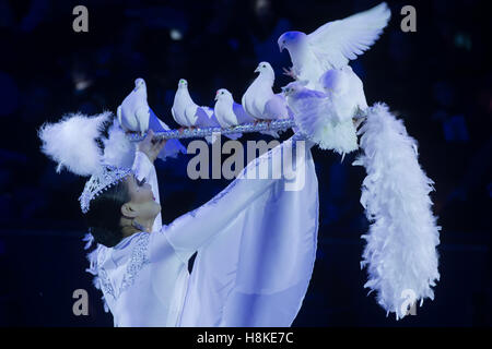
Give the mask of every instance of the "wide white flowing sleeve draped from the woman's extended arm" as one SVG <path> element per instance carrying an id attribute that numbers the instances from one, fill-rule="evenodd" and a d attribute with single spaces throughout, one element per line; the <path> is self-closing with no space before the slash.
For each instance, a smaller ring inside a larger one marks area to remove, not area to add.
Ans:
<path id="1" fill-rule="evenodd" d="M 294 137 L 248 164 L 211 201 L 154 232 L 156 253 L 171 244 L 187 263 L 198 252 L 177 326 L 294 321 L 313 273 L 318 230 L 312 143 L 300 146 Z M 273 176 L 289 154 L 294 173 L 282 166 L 280 178 Z"/>

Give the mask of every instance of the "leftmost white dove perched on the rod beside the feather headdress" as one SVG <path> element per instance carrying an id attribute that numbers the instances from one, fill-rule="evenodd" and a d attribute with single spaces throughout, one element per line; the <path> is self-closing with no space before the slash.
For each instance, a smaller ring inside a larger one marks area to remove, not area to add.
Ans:
<path id="1" fill-rule="evenodd" d="M 119 124 L 126 132 L 139 132 L 143 135 L 149 129 L 150 108 L 147 103 L 145 81 L 134 81 L 133 91 L 124 99 L 116 115 Z"/>

